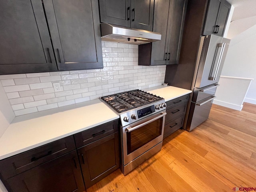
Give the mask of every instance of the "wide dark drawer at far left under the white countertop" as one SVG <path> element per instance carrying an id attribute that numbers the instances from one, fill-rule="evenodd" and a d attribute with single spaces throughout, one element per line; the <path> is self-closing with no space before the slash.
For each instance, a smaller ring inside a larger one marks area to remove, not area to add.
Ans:
<path id="1" fill-rule="evenodd" d="M 76 149 L 73 136 L 51 142 L 0 161 L 3 179 L 10 178 Z"/>

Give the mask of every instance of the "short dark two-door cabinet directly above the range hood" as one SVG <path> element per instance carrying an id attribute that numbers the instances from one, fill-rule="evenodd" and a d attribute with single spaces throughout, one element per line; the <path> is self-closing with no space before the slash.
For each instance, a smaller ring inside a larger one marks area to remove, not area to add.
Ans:
<path id="1" fill-rule="evenodd" d="M 100 22 L 152 31 L 154 0 L 99 0 Z"/>

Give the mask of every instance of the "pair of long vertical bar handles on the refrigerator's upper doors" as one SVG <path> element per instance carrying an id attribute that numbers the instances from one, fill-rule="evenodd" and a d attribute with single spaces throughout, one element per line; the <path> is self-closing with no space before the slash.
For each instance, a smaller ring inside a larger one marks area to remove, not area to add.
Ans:
<path id="1" fill-rule="evenodd" d="M 216 54 L 214 56 L 214 62 L 213 62 L 213 66 L 212 66 L 212 70 L 210 72 L 210 78 L 209 80 L 216 80 L 219 68 L 220 68 L 220 62 L 224 53 L 224 49 L 225 49 L 225 45 L 226 43 L 218 43 L 217 44 L 217 51 Z M 218 58 L 218 59 L 217 59 Z"/>

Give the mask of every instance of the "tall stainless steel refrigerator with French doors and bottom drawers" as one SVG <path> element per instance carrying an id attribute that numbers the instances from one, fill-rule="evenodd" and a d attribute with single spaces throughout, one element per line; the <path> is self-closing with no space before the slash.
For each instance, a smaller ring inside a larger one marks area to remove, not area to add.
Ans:
<path id="1" fill-rule="evenodd" d="M 208 119 L 230 40 L 216 35 L 202 36 L 192 82 L 184 128 L 191 131 Z M 194 87 L 193 87 L 194 86 Z"/>

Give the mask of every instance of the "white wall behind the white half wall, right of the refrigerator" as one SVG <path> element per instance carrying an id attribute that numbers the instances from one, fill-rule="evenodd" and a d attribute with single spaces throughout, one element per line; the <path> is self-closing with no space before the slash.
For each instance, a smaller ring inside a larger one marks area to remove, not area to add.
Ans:
<path id="1" fill-rule="evenodd" d="M 232 38 L 221 75 L 253 78 L 245 102 L 256 104 L 256 25 Z"/>

